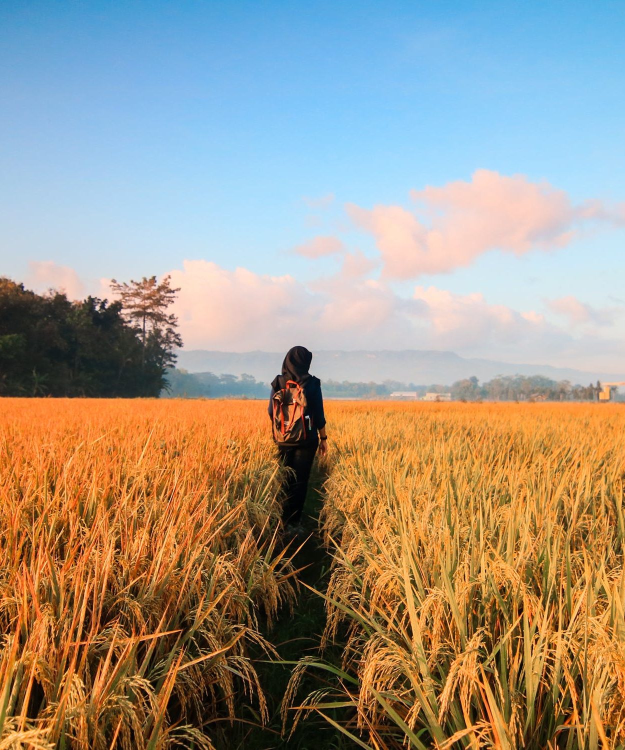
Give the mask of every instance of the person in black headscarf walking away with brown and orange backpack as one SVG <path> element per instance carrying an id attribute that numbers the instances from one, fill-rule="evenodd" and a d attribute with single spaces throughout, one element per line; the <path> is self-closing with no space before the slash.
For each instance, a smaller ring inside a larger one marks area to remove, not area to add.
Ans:
<path id="1" fill-rule="evenodd" d="M 322 456 L 328 450 L 321 381 L 308 372 L 311 362 L 312 354 L 305 347 L 290 349 L 269 396 L 273 438 L 281 462 L 289 469 L 282 520 L 295 527 L 302 519 L 314 455 L 317 449 Z"/>

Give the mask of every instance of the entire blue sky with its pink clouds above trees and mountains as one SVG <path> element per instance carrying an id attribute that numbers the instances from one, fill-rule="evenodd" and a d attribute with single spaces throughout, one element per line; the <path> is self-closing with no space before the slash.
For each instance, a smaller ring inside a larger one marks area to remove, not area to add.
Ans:
<path id="1" fill-rule="evenodd" d="M 625 372 L 623 22 L 621 1 L 5 0 L 0 273 L 73 296 L 171 273 L 187 348 L 298 326 Z"/>

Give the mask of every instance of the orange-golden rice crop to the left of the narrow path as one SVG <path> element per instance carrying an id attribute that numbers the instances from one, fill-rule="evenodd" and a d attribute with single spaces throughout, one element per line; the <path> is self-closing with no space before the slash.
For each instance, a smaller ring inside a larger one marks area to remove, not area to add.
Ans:
<path id="1" fill-rule="evenodd" d="M 292 604 L 241 404 L 2 402 L 0 748 L 211 748 Z M 263 429 L 265 428 L 265 429 Z"/>

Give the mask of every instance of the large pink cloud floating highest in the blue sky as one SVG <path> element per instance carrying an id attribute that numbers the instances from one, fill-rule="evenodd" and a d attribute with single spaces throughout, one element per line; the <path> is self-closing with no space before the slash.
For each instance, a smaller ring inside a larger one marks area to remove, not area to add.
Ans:
<path id="1" fill-rule="evenodd" d="M 383 274 L 409 279 L 469 266 L 500 250 L 515 255 L 568 245 L 581 220 L 617 220 L 594 202 L 576 207 L 563 191 L 524 175 L 478 169 L 470 181 L 449 182 L 411 193 L 414 208 L 348 203 L 347 214 L 374 236 Z M 603 211 L 603 215 L 602 214 Z"/>

